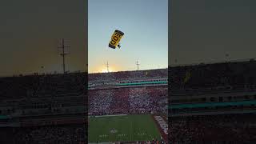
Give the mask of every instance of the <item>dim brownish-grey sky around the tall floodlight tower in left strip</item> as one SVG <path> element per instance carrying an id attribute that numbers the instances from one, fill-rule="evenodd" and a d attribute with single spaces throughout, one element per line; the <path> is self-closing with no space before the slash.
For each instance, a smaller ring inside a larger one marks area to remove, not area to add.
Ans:
<path id="1" fill-rule="evenodd" d="M 2 0 L 0 77 L 36 72 L 62 73 L 59 38 L 70 40 L 66 70 L 86 71 L 86 12 L 84 0 Z"/>

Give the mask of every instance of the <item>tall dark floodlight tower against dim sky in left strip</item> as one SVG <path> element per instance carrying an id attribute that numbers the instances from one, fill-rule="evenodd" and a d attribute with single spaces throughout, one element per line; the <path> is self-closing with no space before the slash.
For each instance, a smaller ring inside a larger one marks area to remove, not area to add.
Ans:
<path id="1" fill-rule="evenodd" d="M 62 67 L 63 67 L 63 74 L 66 72 L 66 65 L 65 65 L 65 56 L 67 54 L 70 54 L 70 41 L 67 39 L 62 38 L 60 40 L 59 46 L 58 46 L 59 54 L 62 56 Z"/>

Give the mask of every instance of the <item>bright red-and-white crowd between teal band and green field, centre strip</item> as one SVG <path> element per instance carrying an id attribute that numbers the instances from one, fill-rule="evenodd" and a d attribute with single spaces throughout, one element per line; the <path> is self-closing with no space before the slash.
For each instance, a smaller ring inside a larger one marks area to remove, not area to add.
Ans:
<path id="1" fill-rule="evenodd" d="M 167 114 L 167 91 L 167 86 L 90 90 L 89 114 Z"/>

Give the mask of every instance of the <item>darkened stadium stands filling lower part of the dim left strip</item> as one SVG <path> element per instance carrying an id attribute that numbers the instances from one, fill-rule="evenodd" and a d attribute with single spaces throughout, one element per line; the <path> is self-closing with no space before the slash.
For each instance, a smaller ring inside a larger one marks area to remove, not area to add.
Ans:
<path id="1" fill-rule="evenodd" d="M 0 78 L 0 143 L 86 143 L 86 76 Z"/>

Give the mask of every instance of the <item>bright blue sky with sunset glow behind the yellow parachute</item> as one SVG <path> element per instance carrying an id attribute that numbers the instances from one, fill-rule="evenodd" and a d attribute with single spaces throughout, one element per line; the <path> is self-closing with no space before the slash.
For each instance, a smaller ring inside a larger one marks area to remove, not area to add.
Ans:
<path id="1" fill-rule="evenodd" d="M 108 47 L 114 30 L 124 36 L 121 49 Z M 89 0 L 89 73 L 167 68 L 167 0 Z"/>

